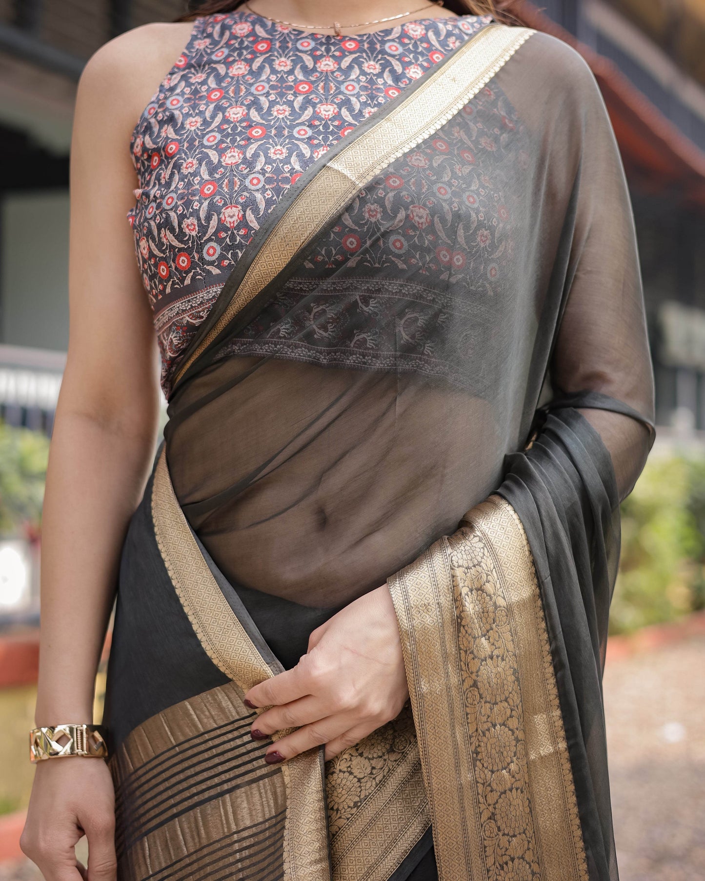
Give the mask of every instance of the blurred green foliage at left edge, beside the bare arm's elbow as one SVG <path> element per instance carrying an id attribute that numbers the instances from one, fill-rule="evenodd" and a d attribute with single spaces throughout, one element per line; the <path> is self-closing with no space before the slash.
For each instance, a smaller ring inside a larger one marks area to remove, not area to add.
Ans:
<path id="1" fill-rule="evenodd" d="M 0 534 L 39 528 L 48 450 L 43 434 L 0 421 Z"/>

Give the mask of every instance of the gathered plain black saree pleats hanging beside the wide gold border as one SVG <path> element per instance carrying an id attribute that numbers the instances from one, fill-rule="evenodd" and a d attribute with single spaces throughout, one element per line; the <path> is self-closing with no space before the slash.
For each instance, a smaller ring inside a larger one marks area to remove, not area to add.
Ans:
<path id="1" fill-rule="evenodd" d="M 577 411 L 546 421 L 499 490 L 525 525 L 544 583 L 562 714 L 592 876 L 616 878 L 602 704 L 607 618 L 620 546 L 609 454 Z"/>

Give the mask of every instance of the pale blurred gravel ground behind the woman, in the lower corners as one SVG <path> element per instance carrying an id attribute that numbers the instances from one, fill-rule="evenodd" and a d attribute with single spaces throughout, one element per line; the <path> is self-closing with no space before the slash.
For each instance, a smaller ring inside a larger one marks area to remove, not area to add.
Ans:
<path id="1" fill-rule="evenodd" d="M 605 708 L 620 881 L 705 878 L 705 638 L 608 663 Z"/>

